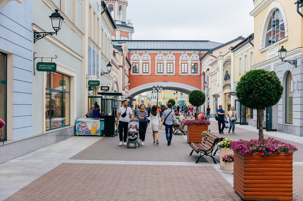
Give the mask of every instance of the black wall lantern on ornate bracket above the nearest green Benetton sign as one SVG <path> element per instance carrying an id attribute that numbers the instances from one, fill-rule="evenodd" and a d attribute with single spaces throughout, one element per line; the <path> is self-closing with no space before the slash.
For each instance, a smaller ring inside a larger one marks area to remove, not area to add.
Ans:
<path id="1" fill-rule="evenodd" d="M 63 17 L 60 15 L 59 10 L 55 9 L 55 12 L 52 13 L 51 16 L 49 16 L 52 20 L 52 27 L 55 30 L 55 32 L 36 32 L 34 31 L 34 43 L 36 43 L 37 40 L 44 38 L 47 35 L 54 35 L 58 33 L 58 31 L 61 29 L 62 21 L 64 20 Z"/>

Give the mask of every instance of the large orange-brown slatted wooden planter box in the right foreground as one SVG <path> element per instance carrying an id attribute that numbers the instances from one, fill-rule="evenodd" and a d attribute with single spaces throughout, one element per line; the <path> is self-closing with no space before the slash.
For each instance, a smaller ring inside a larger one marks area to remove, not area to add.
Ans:
<path id="1" fill-rule="evenodd" d="M 233 189 L 244 200 L 292 201 L 293 154 L 255 154 L 234 154 Z"/>

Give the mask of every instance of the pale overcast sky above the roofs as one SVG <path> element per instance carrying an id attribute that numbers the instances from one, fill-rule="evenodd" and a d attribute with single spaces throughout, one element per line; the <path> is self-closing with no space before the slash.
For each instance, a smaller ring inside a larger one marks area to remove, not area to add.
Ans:
<path id="1" fill-rule="evenodd" d="M 226 43 L 254 31 L 252 0 L 128 0 L 133 40 Z"/>

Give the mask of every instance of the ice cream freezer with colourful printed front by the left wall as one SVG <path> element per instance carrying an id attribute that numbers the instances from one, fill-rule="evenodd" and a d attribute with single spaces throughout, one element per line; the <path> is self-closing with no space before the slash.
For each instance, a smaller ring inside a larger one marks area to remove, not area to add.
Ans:
<path id="1" fill-rule="evenodd" d="M 78 118 L 76 120 L 76 132 L 78 135 L 104 135 L 104 119 L 99 118 Z"/>

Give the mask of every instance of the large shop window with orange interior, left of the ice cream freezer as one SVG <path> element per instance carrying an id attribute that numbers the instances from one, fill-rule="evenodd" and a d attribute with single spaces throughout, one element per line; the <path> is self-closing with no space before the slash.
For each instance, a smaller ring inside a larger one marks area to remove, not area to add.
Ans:
<path id="1" fill-rule="evenodd" d="M 47 72 L 45 130 L 70 125 L 70 77 Z"/>

